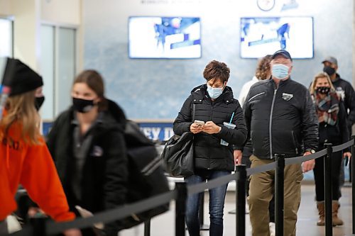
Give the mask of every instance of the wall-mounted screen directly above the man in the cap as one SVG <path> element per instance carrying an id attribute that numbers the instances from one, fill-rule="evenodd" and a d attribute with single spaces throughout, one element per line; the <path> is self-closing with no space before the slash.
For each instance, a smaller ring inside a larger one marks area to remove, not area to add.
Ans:
<path id="1" fill-rule="evenodd" d="M 241 18 L 242 58 L 259 58 L 284 49 L 293 58 L 313 57 L 312 17 Z"/>

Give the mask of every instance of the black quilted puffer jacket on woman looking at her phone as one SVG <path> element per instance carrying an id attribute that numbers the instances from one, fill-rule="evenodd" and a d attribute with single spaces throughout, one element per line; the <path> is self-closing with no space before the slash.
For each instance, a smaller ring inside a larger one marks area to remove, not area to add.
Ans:
<path id="1" fill-rule="evenodd" d="M 222 127 L 221 132 L 213 135 L 201 132 L 195 134 L 195 168 L 234 171 L 233 145 L 241 145 L 246 140 L 246 125 L 239 102 L 233 98 L 230 87 L 215 101 L 209 98 L 207 85 L 203 84 L 192 90 L 191 95 L 182 105 L 181 111 L 174 122 L 174 132 L 182 135 L 190 132 L 192 124 L 192 104 L 195 103 L 195 120 L 207 122 L 212 120 Z M 235 129 L 223 126 L 223 122 L 236 124 Z M 229 142 L 229 146 L 221 145 L 221 139 Z"/>

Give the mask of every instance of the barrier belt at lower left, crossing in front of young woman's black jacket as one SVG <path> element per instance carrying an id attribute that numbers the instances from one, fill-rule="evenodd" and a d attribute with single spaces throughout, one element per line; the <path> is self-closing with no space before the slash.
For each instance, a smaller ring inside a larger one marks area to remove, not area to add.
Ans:
<path id="1" fill-rule="evenodd" d="M 177 196 L 177 191 L 168 191 L 146 200 L 139 201 L 138 203 L 130 204 L 121 208 L 115 208 L 113 210 L 107 210 L 102 213 L 96 213 L 90 218 L 77 218 L 77 220 L 62 223 L 55 223 L 51 221 L 45 225 L 46 233 L 48 235 L 54 235 L 70 228 L 92 227 L 94 223 L 112 222 L 114 220 L 133 215 L 134 213 L 140 213 L 144 210 L 154 208 L 155 206 L 161 206 L 164 203 L 169 203 L 171 199 L 175 199 Z"/>

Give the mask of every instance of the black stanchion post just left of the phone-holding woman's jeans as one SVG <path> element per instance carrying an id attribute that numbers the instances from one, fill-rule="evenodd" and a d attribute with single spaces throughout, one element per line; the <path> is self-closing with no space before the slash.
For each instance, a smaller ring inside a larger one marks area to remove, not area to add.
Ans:
<path id="1" fill-rule="evenodd" d="M 185 236 L 187 187 L 185 182 L 175 182 L 178 197 L 175 201 L 175 236 Z"/>

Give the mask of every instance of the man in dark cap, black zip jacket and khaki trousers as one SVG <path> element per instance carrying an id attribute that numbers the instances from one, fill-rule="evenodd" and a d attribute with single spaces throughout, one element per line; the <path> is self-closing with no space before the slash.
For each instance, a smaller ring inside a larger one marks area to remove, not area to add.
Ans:
<path id="1" fill-rule="evenodd" d="M 275 154 L 297 157 L 315 152 L 318 120 L 310 92 L 290 79 L 293 63 L 285 50 L 271 57 L 271 79 L 251 86 L 244 103 L 246 127 L 251 136 L 251 167 L 274 162 Z M 304 145 L 305 150 L 302 150 Z M 285 166 L 285 236 L 296 234 L 300 206 L 302 170 L 308 172 L 315 160 Z M 253 174 L 249 186 L 249 210 L 253 236 L 269 236 L 268 206 L 274 193 L 275 171 Z"/>

